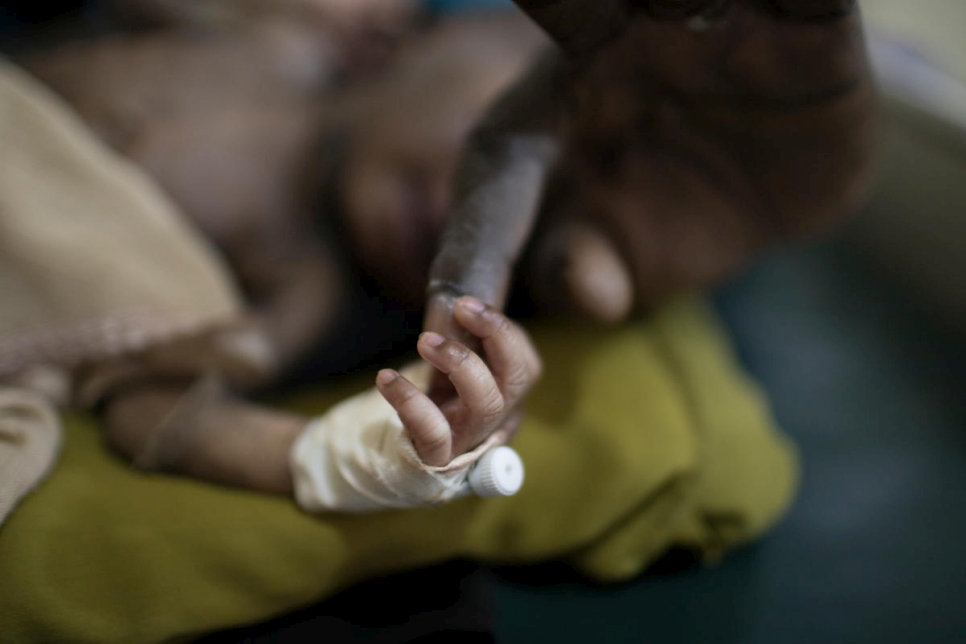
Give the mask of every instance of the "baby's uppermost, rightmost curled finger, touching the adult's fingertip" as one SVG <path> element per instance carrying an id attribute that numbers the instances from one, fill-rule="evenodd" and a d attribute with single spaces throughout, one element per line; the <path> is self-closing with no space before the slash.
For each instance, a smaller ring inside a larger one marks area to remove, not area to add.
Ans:
<path id="1" fill-rule="evenodd" d="M 526 331 L 475 298 L 463 297 L 456 319 L 483 341 L 486 358 L 506 404 L 513 407 L 540 379 L 543 364 Z"/>

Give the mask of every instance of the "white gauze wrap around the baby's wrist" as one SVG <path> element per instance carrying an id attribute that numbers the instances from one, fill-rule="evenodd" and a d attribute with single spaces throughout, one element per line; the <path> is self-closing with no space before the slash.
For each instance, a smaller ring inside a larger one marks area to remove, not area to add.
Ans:
<path id="1" fill-rule="evenodd" d="M 426 391 L 429 365 L 403 371 Z M 448 465 L 424 464 L 399 415 L 376 389 L 358 394 L 312 420 L 292 446 L 295 499 L 308 512 L 369 512 L 437 505 L 470 493 L 468 475 L 497 432 Z"/>

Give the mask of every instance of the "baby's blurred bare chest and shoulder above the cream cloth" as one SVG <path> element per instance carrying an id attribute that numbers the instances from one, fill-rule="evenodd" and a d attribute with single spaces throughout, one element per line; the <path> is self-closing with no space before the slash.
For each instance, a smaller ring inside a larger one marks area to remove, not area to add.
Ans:
<path id="1" fill-rule="evenodd" d="M 278 370 L 325 333 L 343 276 L 311 219 L 334 120 L 320 96 L 342 70 L 312 29 L 114 35 L 21 62 L 219 246 Z"/>

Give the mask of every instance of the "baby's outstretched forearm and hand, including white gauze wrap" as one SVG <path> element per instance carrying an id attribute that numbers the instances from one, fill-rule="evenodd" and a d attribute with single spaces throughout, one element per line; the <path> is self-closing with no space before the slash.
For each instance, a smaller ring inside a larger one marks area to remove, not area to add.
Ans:
<path id="1" fill-rule="evenodd" d="M 105 403 L 108 441 L 144 469 L 294 495 L 309 511 L 448 501 L 466 493 L 476 461 L 510 438 L 541 371 L 526 333 L 478 304 L 461 299 L 456 320 L 482 343 L 490 367 L 433 334 L 418 345 L 452 380 L 450 399 L 433 402 L 415 375 L 383 370 L 378 390 L 310 419 L 240 400 L 210 379 L 132 383 Z"/>

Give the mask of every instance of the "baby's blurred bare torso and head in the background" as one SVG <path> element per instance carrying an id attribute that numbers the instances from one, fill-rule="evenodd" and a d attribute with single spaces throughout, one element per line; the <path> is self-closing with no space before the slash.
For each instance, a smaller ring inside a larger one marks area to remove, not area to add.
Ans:
<path id="1" fill-rule="evenodd" d="M 448 20 L 338 89 L 313 33 L 160 31 L 21 61 L 218 245 L 283 371 L 327 332 L 347 278 L 312 223 L 336 215 L 319 198 L 332 135 L 345 142 L 345 241 L 387 296 L 418 306 L 461 145 L 547 42 L 515 12 Z"/>

